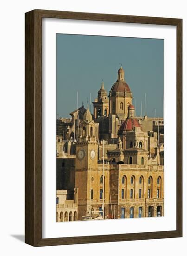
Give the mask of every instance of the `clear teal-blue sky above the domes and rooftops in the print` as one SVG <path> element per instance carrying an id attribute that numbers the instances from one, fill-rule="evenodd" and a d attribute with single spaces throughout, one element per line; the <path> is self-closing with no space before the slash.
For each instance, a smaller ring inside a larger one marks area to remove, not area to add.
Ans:
<path id="1" fill-rule="evenodd" d="M 101 87 L 110 91 L 123 66 L 125 80 L 136 99 L 136 114 L 163 117 L 164 40 L 57 34 L 57 114 L 69 113 L 87 99 L 94 101 Z M 93 106 L 91 106 L 93 113 Z"/>

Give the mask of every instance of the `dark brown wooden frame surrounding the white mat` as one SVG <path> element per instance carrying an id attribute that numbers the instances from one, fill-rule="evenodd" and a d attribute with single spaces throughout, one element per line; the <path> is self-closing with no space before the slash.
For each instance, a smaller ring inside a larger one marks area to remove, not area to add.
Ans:
<path id="1" fill-rule="evenodd" d="M 42 19 L 97 20 L 176 26 L 177 212 L 176 230 L 42 238 Z M 32 10 L 25 14 L 25 242 L 32 246 L 101 243 L 182 236 L 182 20 L 101 13 Z"/>

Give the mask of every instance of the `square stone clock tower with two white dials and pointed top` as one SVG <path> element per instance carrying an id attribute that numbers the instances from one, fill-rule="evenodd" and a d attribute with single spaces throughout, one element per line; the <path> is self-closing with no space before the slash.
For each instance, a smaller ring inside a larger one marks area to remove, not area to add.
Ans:
<path id="1" fill-rule="evenodd" d="M 98 142 L 95 123 L 87 108 L 80 123 L 81 136 L 76 143 L 75 188 L 78 188 L 78 220 L 90 214 L 91 179 L 97 169 Z"/>

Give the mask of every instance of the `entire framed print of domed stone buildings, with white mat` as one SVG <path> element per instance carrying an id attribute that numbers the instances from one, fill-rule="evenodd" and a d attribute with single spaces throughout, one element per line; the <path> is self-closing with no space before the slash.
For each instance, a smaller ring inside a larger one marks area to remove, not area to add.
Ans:
<path id="1" fill-rule="evenodd" d="M 181 237 L 182 20 L 25 21 L 25 242 Z"/>

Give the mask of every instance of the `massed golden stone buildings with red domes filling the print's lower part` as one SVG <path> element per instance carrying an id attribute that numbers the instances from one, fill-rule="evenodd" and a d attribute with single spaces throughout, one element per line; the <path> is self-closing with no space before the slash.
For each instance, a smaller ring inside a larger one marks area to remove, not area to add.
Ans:
<path id="1" fill-rule="evenodd" d="M 135 116 L 122 66 L 109 95 L 103 82 L 97 94 L 93 115 L 71 112 L 68 134 L 57 136 L 58 195 L 76 203 L 75 220 L 163 216 L 163 118 Z"/>

